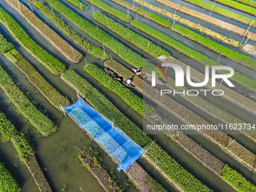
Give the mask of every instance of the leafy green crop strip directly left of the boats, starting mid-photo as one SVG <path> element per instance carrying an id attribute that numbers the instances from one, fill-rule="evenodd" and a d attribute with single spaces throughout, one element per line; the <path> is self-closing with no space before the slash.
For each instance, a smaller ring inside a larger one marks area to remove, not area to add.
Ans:
<path id="1" fill-rule="evenodd" d="M 152 111 L 154 111 L 154 108 L 152 106 L 146 103 L 143 104 L 143 99 L 141 99 L 139 96 L 136 96 L 136 94 L 126 88 L 123 84 L 120 84 L 120 82 L 114 80 L 114 78 L 111 78 L 110 75 L 103 72 L 102 69 L 99 69 L 99 67 L 93 64 L 88 64 L 84 66 L 84 71 L 89 73 L 103 86 L 107 87 L 109 90 L 120 96 L 120 98 L 123 99 L 124 102 L 126 102 L 128 105 L 130 105 L 130 107 L 139 112 L 139 114 L 143 115 L 145 114 L 145 112 L 147 114 L 150 114 Z"/>

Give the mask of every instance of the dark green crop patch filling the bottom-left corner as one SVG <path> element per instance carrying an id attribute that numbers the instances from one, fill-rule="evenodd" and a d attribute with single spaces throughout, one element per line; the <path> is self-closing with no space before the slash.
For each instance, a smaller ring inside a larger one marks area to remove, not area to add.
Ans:
<path id="1" fill-rule="evenodd" d="M 3 192 L 18 192 L 20 186 L 15 180 L 11 172 L 5 168 L 4 163 L 0 161 L 0 191 Z"/>

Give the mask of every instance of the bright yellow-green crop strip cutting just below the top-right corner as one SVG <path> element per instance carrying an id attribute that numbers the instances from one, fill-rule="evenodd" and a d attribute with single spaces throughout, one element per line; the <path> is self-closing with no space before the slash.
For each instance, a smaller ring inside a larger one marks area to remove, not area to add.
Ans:
<path id="1" fill-rule="evenodd" d="M 213 1 L 213 0 L 211 0 L 211 1 Z M 222 5 L 227 5 L 230 8 L 234 8 L 236 10 L 239 10 L 239 11 L 245 12 L 247 14 L 251 14 L 251 15 L 256 16 L 256 9 L 251 8 L 248 5 L 244 5 L 244 4 L 239 3 L 239 2 L 234 2 L 232 0 L 216 0 L 215 2 L 218 2 Z"/>

